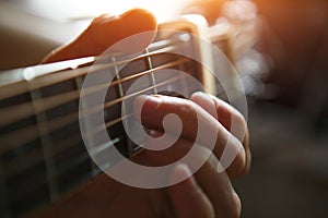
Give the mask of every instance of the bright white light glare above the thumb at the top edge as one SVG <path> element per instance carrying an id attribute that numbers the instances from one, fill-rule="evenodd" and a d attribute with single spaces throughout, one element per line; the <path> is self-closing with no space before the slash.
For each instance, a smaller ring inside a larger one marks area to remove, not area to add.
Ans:
<path id="1" fill-rule="evenodd" d="M 77 20 L 103 13 L 120 14 L 131 8 L 143 8 L 165 21 L 177 14 L 188 0 L 30 0 L 30 8 L 52 20 Z"/>

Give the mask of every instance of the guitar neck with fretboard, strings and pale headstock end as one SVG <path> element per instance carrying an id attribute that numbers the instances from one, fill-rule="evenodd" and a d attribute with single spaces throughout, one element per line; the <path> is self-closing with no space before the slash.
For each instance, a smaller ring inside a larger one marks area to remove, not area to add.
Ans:
<path id="1" fill-rule="evenodd" d="M 95 153 L 118 149 L 125 157 L 138 155 L 142 148 L 125 133 L 120 111 L 122 100 L 140 94 L 175 95 L 172 86 L 179 87 L 185 97 L 199 89 L 188 88 L 188 78 L 160 74 L 161 70 L 176 69 L 201 82 L 204 89 L 221 98 L 226 93 L 220 82 L 200 63 L 173 55 L 177 49 L 191 49 L 195 56 L 214 69 L 234 74 L 231 65 L 213 56 L 197 35 L 211 41 L 233 60 L 227 28 L 208 27 L 200 16 L 188 16 L 161 24 L 159 29 L 179 31 L 176 35 L 159 34 L 143 53 L 130 59 L 112 55 L 110 64 L 101 69 L 116 69 L 114 82 L 104 102 L 105 128 L 90 135 L 97 145 Z M 107 57 L 108 58 L 108 57 Z M 119 61 L 116 61 L 118 60 Z M 102 172 L 84 146 L 79 126 L 79 98 L 87 73 L 97 73 L 93 65 L 96 57 L 42 64 L 0 73 L 0 216 L 35 215 L 46 205 L 57 202 Z M 128 87 L 140 76 L 149 76 L 148 87 L 126 96 Z M 234 77 L 234 76 L 232 76 Z M 230 82 L 231 89 L 235 84 Z M 87 95 L 97 95 L 106 84 L 90 88 Z M 93 109 L 90 109 L 92 113 Z M 96 142 L 96 135 L 106 131 L 113 141 Z M 119 160 L 115 160 L 119 161 Z M 108 160 L 109 165 L 115 164 Z M 74 191 L 75 190 L 75 191 Z M 79 189 L 78 189 L 79 190 Z"/>

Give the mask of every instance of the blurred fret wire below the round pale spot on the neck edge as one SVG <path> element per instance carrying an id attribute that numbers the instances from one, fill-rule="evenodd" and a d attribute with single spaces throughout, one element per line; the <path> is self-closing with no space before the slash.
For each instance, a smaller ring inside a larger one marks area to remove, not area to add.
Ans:
<path id="1" fill-rule="evenodd" d="M 42 94 L 39 90 L 35 89 L 31 92 L 32 102 L 34 104 L 36 99 L 42 98 Z M 35 110 L 39 107 L 39 105 L 35 105 Z M 45 113 L 36 113 L 36 120 L 37 123 L 43 122 L 44 120 L 47 120 L 47 117 Z M 42 152 L 44 155 L 44 161 L 46 166 L 46 174 L 48 179 L 49 184 L 49 193 L 50 193 L 50 199 L 54 202 L 59 197 L 58 192 L 58 184 L 57 181 L 54 180 L 54 174 L 56 173 L 55 168 L 55 160 L 51 158 L 51 141 L 48 138 L 47 134 L 44 134 L 43 131 L 47 130 L 47 126 L 43 125 L 40 126 L 37 124 L 38 131 L 40 133 L 40 142 L 42 142 Z"/>

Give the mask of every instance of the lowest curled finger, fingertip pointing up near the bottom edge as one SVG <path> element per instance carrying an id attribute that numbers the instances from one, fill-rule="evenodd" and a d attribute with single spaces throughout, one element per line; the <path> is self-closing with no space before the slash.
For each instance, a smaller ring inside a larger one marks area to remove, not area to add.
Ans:
<path id="1" fill-rule="evenodd" d="M 168 187 L 169 199 L 177 218 L 215 217 L 213 206 L 186 165 L 178 165 L 172 180 L 185 179 L 183 182 Z"/>

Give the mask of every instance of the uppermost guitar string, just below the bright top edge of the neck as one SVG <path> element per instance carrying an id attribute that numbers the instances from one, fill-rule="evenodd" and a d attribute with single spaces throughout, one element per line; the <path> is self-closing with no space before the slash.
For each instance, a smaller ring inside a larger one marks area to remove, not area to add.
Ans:
<path id="1" fill-rule="evenodd" d="M 28 85 L 26 81 L 19 81 L 16 83 L 13 84 L 7 84 L 3 86 L 0 86 L 0 88 L 2 89 L 2 92 L 0 92 L 0 100 L 1 99 L 5 99 L 9 97 L 13 97 L 13 96 L 17 96 L 24 93 L 27 93 L 30 89 L 39 89 L 43 87 L 47 87 L 60 82 L 65 82 L 71 78 L 74 78 L 77 76 L 82 76 L 85 75 L 87 73 L 94 73 L 96 71 L 99 70 L 105 70 L 106 68 L 110 68 L 114 64 L 125 64 L 125 63 L 129 63 L 132 61 L 137 61 L 140 59 L 144 59 L 148 56 L 156 56 L 156 55 L 161 55 L 163 52 L 169 52 L 173 51 L 174 49 L 180 47 L 181 45 L 178 46 L 171 46 L 167 48 L 163 48 L 163 49 L 159 49 L 156 51 L 152 51 L 148 55 L 141 55 L 139 57 L 136 58 L 130 58 L 128 60 L 122 60 L 119 61 L 117 63 L 107 63 L 107 64 L 98 64 L 98 65 L 87 65 L 87 66 L 82 66 L 79 69 L 73 69 L 73 70 L 65 70 L 65 71 L 60 71 L 60 72 L 54 72 L 54 73 L 49 73 L 39 77 L 35 77 L 32 81 L 28 81 Z M 92 70 L 91 70 L 92 69 Z M 30 89 L 28 89 L 30 87 Z"/>

